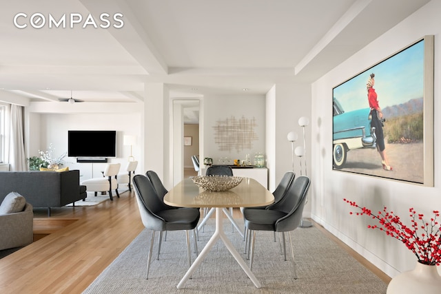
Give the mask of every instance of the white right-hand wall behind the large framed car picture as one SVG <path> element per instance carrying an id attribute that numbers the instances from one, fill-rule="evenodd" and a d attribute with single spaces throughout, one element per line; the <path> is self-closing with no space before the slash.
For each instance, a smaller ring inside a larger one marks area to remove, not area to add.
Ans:
<path id="1" fill-rule="evenodd" d="M 312 216 L 392 277 L 401 271 L 413 269 L 416 257 L 398 240 L 381 231 L 368 230 L 367 224 L 375 223 L 370 218 L 350 216 L 351 207 L 342 198 L 355 200 L 373 211 L 381 210 L 385 205 L 407 224 L 410 224 L 410 207 L 425 216 L 431 215 L 433 209 L 441 210 L 441 178 L 438 169 L 441 166 L 438 152 L 440 135 L 436 127 L 441 123 L 436 115 L 441 112 L 438 83 L 441 68 L 440 12 L 441 1 L 431 1 L 312 85 Z M 434 187 L 333 171 L 332 88 L 427 34 L 435 35 Z"/>

